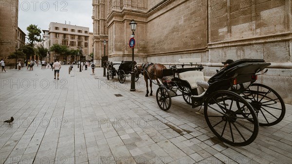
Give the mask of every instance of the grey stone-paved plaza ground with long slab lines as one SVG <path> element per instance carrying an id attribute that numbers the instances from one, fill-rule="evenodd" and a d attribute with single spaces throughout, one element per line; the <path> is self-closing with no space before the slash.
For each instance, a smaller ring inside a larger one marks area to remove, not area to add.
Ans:
<path id="1" fill-rule="evenodd" d="M 220 142 L 203 111 L 183 97 L 161 110 L 145 97 L 144 80 L 109 81 L 103 69 L 81 73 L 7 70 L 0 73 L 1 164 L 291 164 L 292 106 L 272 127 L 259 127 L 242 147 Z M 3 123 L 14 117 L 13 124 Z M 171 127 L 171 128 L 170 128 Z M 174 130 L 176 129 L 176 130 Z"/>

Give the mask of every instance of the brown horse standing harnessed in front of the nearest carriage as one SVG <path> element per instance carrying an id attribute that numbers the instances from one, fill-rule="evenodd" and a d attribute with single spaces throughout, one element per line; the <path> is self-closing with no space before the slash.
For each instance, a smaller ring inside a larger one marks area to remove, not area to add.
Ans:
<path id="1" fill-rule="evenodd" d="M 152 96 L 152 80 L 156 80 L 158 83 L 158 78 L 162 78 L 162 70 L 166 69 L 163 64 L 153 64 L 153 63 L 143 63 L 141 66 L 137 67 L 141 74 L 144 75 L 144 80 L 146 82 L 146 97 L 148 97 L 148 79 L 150 81 L 150 96 Z"/>

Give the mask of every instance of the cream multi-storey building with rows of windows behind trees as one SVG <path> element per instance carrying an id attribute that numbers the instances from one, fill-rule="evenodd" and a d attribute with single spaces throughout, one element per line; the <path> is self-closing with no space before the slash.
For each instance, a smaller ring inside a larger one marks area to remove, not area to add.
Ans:
<path id="1" fill-rule="evenodd" d="M 61 44 L 67 46 L 69 50 L 82 50 L 82 55 L 80 55 L 77 60 L 89 59 L 89 27 L 51 22 L 47 34 L 48 36 L 46 37 L 49 37 L 49 47 L 53 46 L 53 44 Z M 69 54 L 60 55 L 55 52 L 50 52 L 49 58 L 50 62 L 55 59 L 65 63 L 75 60 Z"/>

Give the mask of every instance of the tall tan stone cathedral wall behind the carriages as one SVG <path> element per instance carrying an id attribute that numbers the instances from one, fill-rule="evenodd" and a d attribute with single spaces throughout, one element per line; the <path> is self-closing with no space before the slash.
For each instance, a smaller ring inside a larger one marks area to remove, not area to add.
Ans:
<path id="1" fill-rule="evenodd" d="M 292 103 L 292 0 L 111 0 L 109 60 L 131 60 L 128 23 L 135 19 L 135 60 L 201 58 L 206 75 L 226 59 L 271 62 L 258 81 Z"/>

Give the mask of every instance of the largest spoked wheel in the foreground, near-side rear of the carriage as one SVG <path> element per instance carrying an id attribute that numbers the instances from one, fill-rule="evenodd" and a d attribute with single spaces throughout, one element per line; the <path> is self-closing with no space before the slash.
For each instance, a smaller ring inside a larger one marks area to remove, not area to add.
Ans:
<path id="1" fill-rule="evenodd" d="M 248 110 L 238 108 L 237 104 Z M 235 92 L 216 91 L 210 94 L 204 101 L 204 115 L 212 132 L 226 144 L 246 146 L 256 139 L 259 126 L 256 112 Z"/>

